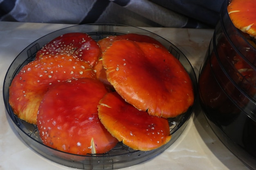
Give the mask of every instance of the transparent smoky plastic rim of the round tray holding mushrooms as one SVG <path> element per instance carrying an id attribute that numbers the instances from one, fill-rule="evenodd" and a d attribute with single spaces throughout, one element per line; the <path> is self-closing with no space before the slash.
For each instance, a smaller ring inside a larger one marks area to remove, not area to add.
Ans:
<path id="1" fill-rule="evenodd" d="M 42 42 L 42 40 L 45 40 L 47 39 L 47 37 L 49 36 L 52 36 L 53 34 L 54 35 L 58 35 L 58 34 L 63 34 L 63 31 L 65 32 L 66 30 L 68 30 L 68 32 L 71 32 L 71 30 L 73 30 L 74 28 L 76 28 L 77 26 L 80 26 L 80 27 L 83 27 L 83 26 L 109 26 L 109 27 L 112 27 L 112 26 L 121 26 L 121 27 L 127 27 L 129 29 L 139 29 L 140 31 L 143 31 L 145 33 L 150 33 L 150 35 L 154 35 L 155 37 L 158 37 L 160 38 L 161 40 L 164 40 L 166 41 L 165 44 L 169 44 L 171 47 L 172 47 L 172 50 L 174 50 L 174 53 L 178 53 L 180 57 L 180 55 L 182 55 L 182 57 L 184 57 L 184 60 L 186 60 L 186 62 L 188 62 L 187 64 L 189 64 L 189 67 L 190 68 L 190 71 L 188 71 L 192 81 L 193 81 L 193 86 L 194 86 L 194 94 L 195 94 L 195 102 L 196 102 L 196 98 L 197 98 L 197 95 L 198 95 L 198 89 L 197 89 L 197 79 L 196 79 L 196 76 L 195 76 L 195 72 L 189 62 L 189 60 L 186 58 L 186 56 L 179 50 L 177 49 L 176 46 L 174 46 L 171 42 L 169 42 L 168 40 L 160 37 L 159 35 L 155 34 L 155 33 L 152 33 L 150 31 L 147 31 L 145 29 L 141 29 L 141 28 L 137 28 L 137 27 L 134 27 L 134 26 L 128 26 L 128 25 L 121 25 L 121 24 L 83 24 L 83 25 L 75 25 L 75 26 L 69 26 L 69 27 L 66 27 L 66 28 L 63 28 L 63 29 L 59 29 L 59 30 L 56 30 L 56 31 L 53 31 L 52 33 L 49 33 L 47 35 L 44 35 L 43 37 L 39 38 L 38 40 L 34 41 L 33 43 L 29 44 L 23 51 L 20 52 L 20 54 L 13 60 L 13 62 L 11 63 L 11 65 L 9 66 L 8 68 L 8 71 L 5 75 L 5 78 L 4 78 L 4 85 L 3 85 L 3 97 L 4 97 L 4 105 L 5 105 L 5 108 L 7 110 L 7 114 L 9 115 L 9 117 L 11 118 L 12 120 L 12 123 L 13 123 L 13 126 L 16 128 L 16 130 L 18 131 L 20 137 L 33 149 L 35 150 L 36 152 L 38 152 L 40 155 L 52 160 L 52 161 L 55 161 L 56 163 L 60 163 L 60 164 L 63 164 L 65 166 L 70 166 L 70 167 L 73 167 L 73 168 L 79 168 L 79 169 L 86 169 L 86 168 L 89 168 L 92 166 L 94 166 L 93 169 L 117 169 L 117 168 L 125 168 L 125 167 L 128 167 L 128 166 L 133 166 L 135 164 L 138 164 L 138 163 L 142 163 L 144 161 L 147 161 L 155 156 L 157 156 L 158 154 L 160 154 L 161 152 L 163 152 L 164 150 L 166 150 L 169 146 L 171 146 L 171 144 L 173 144 L 176 139 L 181 135 L 181 133 L 183 132 L 184 128 L 186 127 L 186 124 L 187 124 L 187 121 L 188 119 L 191 117 L 191 114 L 193 112 L 193 106 L 191 106 L 189 108 L 189 110 L 186 112 L 186 113 L 183 113 L 182 115 L 180 115 L 180 124 L 178 124 L 176 126 L 176 128 L 172 131 L 172 139 L 170 142 L 168 142 L 167 144 L 165 144 L 164 146 L 156 149 L 156 150 L 152 150 L 149 152 L 149 154 L 145 154 L 145 155 L 141 155 L 141 153 L 145 153 L 145 152 L 142 152 L 140 150 L 135 150 L 131 153 L 135 153 L 135 154 L 139 154 L 141 156 L 139 156 L 139 158 L 135 158 L 135 159 L 131 159 L 131 161 L 118 161 L 118 162 L 104 162 L 104 160 L 102 160 L 101 158 L 109 158 L 109 157 L 113 157 L 112 155 L 104 155 L 104 156 L 99 156 L 99 155 L 75 155 L 75 154 L 70 154 L 70 153 L 67 153 L 67 152 L 62 152 L 62 151 L 59 151 L 59 150 L 55 150 L 53 148 L 50 148 L 48 146 L 45 146 L 44 144 L 40 143 L 40 141 L 34 139 L 33 137 L 31 137 L 31 134 L 28 134 L 26 133 L 24 130 L 22 130 L 22 128 L 20 128 L 20 119 L 18 119 L 18 117 L 12 112 L 12 109 L 11 107 L 9 106 L 9 102 L 8 102 L 8 88 L 9 88 L 9 84 L 11 84 L 11 79 L 15 76 L 14 74 L 13 75 L 9 75 L 9 72 L 10 72 L 10 69 L 12 68 L 13 65 L 17 64 L 17 60 L 18 60 L 18 57 L 20 55 L 24 55 L 24 53 L 27 53 L 27 55 L 34 55 L 35 53 L 33 51 L 38 51 L 38 46 L 35 46 L 36 43 L 39 43 L 39 48 L 40 48 L 40 43 Z M 110 28 L 111 29 L 111 28 Z M 74 31 L 76 32 L 76 31 Z M 85 32 L 87 33 L 87 32 Z M 104 32 L 105 33 L 105 32 Z M 106 32 L 108 33 L 108 32 Z M 112 33 L 112 32 L 110 32 Z M 116 32 L 113 32 L 113 33 L 116 33 Z M 61 35 L 60 34 L 60 35 Z M 56 37 L 56 36 L 55 36 Z M 48 38 L 47 41 L 49 41 L 50 39 Z M 41 46 L 43 46 L 44 44 L 41 44 Z M 169 46 L 169 48 L 170 48 Z M 28 49 L 30 51 L 28 51 Z M 173 53 L 172 51 L 170 51 L 171 53 Z M 31 61 L 31 58 L 28 57 L 27 58 L 27 61 Z M 24 61 L 25 62 L 25 61 Z M 18 68 L 21 68 L 22 67 L 22 64 L 19 65 Z M 184 66 L 185 67 L 185 66 Z M 185 67 L 186 68 L 186 67 Z M 16 73 L 18 71 L 18 69 L 16 68 L 16 71 L 14 71 L 14 73 Z M 10 77 L 11 76 L 11 77 Z M 10 82 L 7 81 L 7 79 L 10 79 Z M 194 102 L 194 103 L 195 103 Z M 175 136 L 175 133 L 177 134 Z M 27 139 L 28 138 L 28 139 Z M 40 150 L 40 148 L 36 148 L 36 146 L 34 146 L 33 144 L 31 144 L 30 140 L 42 145 L 43 147 L 46 147 L 48 148 L 49 150 L 55 150 L 56 152 L 59 152 L 59 153 L 63 153 L 64 155 L 74 155 L 74 157 L 76 156 L 79 156 L 79 157 L 84 157 L 84 158 L 90 158 L 90 159 L 93 159 L 92 160 L 92 163 L 84 163 L 84 162 L 81 162 L 81 161 L 75 161 L 75 160 L 64 160 L 63 161 L 63 158 L 58 158 L 58 157 L 55 157 L 53 155 L 49 155 L 47 154 L 47 152 L 45 152 L 44 150 Z M 147 151 L 148 152 L 148 151 Z M 131 153 L 124 153 L 123 155 L 116 155 L 116 156 L 127 156 L 127 157 L 130 157 L 130 154 Z M 115 156 L 115 155 L 114 155 Z M 95 161 L 94 159 L 100 159 L 99 161 Z M 101 163 L 103 162 L 103 163 Z M 106 165 L 112 165 L 112 166 L 106 166 Z M 105 167 L 106 166 L 106 167 Z"/>

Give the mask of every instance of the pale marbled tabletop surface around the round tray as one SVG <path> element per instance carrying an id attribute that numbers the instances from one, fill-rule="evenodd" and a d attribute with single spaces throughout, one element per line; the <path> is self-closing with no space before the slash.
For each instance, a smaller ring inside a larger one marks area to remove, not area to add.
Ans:
<path id="1" fill-rule="evenodd" d="M 0 86 L 14 58 L 38 38 L 71 26 L 0 22 Z M 213 30 L 144 28 L 160 35 L 177 46 L 189 59 L 198 75 Z M 0 98 L 0 170 L 73 170 L 52 162 L 20 138 L 13 127 Z M 248 170 L 216 137 L 200 107 L 189 119 L 182 135 L 157 157 L 121 170 Z"/>

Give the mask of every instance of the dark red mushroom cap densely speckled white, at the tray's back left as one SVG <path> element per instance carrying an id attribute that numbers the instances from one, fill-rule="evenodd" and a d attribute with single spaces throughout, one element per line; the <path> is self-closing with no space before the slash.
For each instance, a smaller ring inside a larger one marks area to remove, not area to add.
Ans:
<path id="1" fill-rule="evenodd" d="M 77 56 L 94 66 L 101 56 L 99 44 L 86 33 L 65 33 L 45 44 L 36 53 L 36 58 L 43 55 L 67 54 Z"/>

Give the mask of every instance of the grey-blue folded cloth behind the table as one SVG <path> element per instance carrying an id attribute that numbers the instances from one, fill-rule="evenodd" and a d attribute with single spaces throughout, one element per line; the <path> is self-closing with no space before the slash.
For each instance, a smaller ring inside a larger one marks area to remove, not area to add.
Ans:
<path id="1" fill-rule="evenodd" d="M 213 28 L 224 0 L 0 0 L 0 20 Z"/>

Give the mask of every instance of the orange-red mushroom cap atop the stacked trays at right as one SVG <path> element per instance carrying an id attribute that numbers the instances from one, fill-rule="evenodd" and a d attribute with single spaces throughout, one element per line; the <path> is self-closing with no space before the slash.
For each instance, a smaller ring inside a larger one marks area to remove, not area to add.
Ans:
<path id="1" fill-rule="evenodd" d="M 256 3 L 254 0 L 231 0 L 227 6 L 229 17 L 236 28 L 256 37 Z"/>

